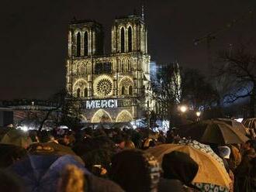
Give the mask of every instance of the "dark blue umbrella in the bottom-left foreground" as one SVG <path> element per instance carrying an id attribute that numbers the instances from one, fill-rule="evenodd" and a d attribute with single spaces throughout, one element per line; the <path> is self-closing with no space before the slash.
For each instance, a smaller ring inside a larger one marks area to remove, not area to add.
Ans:
<path id="1" fill-rule="evenodd" d="M 10 166 L 9 170 L 22 178 L 26 191 L 55 192 L 61 172 L 67 164 L 78 166 L 84 173 L 90 174 L 74 156 L 70 155 L 29 155 Z"/>

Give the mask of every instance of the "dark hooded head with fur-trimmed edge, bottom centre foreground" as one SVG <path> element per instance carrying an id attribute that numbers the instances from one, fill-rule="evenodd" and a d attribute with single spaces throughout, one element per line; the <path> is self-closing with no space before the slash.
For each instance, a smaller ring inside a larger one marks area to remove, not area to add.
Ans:
<path id="1" fill-rule="evenodd" d="M 123 190 L 156 191 L 161 168 L 157 159 L 139 149 L 127 149 L 112 158 L 110 178 Z"/>

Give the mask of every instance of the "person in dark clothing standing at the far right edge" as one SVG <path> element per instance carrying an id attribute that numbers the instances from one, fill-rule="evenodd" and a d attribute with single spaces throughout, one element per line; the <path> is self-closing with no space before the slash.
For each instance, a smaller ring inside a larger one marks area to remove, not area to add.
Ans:
<path id="1" fill-rule="evenodd" d="M 241 163 L 237 166 L 235 170 L 235 183 L 234 190 L 236 192 L 249 192 L 251 191 L 251 182 L 252 179 L 250 175 L 251 170 L 251 160 L 256 157 L 254 150 L 254 141 L 248 140 L 244 143 L 242 148 L 244 149 Z"/>

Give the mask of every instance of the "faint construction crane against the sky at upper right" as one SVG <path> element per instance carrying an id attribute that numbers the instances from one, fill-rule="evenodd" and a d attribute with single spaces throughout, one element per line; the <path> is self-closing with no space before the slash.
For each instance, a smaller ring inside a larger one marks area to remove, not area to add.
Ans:
<path id="1" fill-rule="evenodd" d="M 222 34 L 223 32 L 229 30 L 233 26 L 237 24 L 237 22 L 244 21 L 248 18 L 253 18 L 253 12 L 250 10 L 246 14 L 244 14 L 242 17 L 239 19 L 234 19 L 231 22 L 227 23 L 226 26 L 223 26 L 222 28 L 216 30 L 215 32 L 208 33 L 205 36 L 199 37 L 197 39 L 194 39 L 194 45 L 197 46 L 199 43 L 205 42 L 206 41 L 206 46 L 207 46 L 207 54 L 208 54 L 208 70 L 212 68 L 212 63 L 211 63 L 211 43 L 214 39 L 216 39 L 217 36 Z"/>

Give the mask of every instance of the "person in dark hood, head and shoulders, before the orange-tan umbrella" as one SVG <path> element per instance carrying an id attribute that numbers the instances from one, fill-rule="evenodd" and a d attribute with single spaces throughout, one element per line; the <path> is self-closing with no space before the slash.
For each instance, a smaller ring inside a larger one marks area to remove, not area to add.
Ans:
<path id="1" fill-rule="evenodd" d="M 163 176 L 158 184 L 159 192 L 199 191 L 192 185 L 199 165 L 186 153 L 173 151 L 162 160 Z"/>

